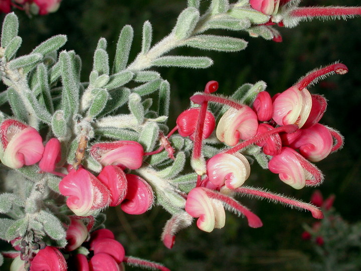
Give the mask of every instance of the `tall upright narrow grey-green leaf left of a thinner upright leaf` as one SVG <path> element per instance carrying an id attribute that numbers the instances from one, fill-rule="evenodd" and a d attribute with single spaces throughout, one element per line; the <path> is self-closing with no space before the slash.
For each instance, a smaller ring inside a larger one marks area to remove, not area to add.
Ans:
<path id="1" fill-rule="evenodd" d="M 113 64 L 113 73 L 124 70 L 129 58 L 131 44 L 133 42 L 133 28 L 129 25 L 123 27 L 120 32 Z"/>

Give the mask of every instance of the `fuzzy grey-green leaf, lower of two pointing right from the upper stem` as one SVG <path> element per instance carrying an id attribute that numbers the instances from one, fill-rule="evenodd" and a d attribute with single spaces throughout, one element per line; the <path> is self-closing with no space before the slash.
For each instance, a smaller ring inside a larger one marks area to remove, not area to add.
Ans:
<path id="1" fill-rule="evenodd" d="M 152 64 L 158 67 L 183 67 L 205 69 L 213 64 L 209 57 L 165 56 L 153 60 Z"/>

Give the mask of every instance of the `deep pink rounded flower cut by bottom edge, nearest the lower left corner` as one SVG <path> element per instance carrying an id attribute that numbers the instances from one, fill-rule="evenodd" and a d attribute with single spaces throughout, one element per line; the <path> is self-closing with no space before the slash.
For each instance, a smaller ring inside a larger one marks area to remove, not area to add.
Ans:
<path id="1" fill-rule="evenodd" d="M 63 254 L 53 246 L 40 249 L 31 262 L 30 271 L 66 271 Z"/>

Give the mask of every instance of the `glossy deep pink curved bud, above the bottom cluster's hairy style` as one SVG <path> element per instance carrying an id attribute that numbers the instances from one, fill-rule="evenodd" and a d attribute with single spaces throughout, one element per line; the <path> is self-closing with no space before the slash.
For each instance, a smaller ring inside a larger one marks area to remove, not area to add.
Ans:
<path id="1" fill-rule="evenodd" d="M 90 243 L 89 249 L 94 251 L 94 255 L 107 253 L 112 256 L 117 263 L 122 262 L 125 255 L 122 244 L 112 238 L 98 238 Z"/>

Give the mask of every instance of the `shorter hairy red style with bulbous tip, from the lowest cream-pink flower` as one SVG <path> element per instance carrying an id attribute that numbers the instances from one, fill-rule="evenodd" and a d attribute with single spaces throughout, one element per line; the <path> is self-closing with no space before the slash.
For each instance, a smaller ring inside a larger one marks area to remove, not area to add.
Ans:
<path id="1" fill-rule="evenodd" d="M 261 219 L 256 214 L 252 213 L 247 207 L 243 206 L 235 199 L 208 188 L 202 187 L 202 189 L 206 192 L 208 197 L 212 199 L 220 200 L 223 203 L 225 203 L 228 207 L 230 207 L 232 211 L 238 214 L 243 214 L 247 218 L 248 225 L 251 228 L 262 227 L 263 224 Z"/>

